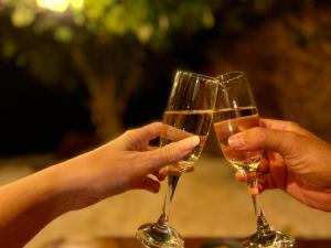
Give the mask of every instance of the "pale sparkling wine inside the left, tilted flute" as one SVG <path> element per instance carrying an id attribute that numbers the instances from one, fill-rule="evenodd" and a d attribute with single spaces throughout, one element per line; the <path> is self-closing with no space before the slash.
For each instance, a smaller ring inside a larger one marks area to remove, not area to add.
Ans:
<path id="1" fill-rule="evenodd" d="M 190 136 L 200 137 L 200 144 L 197 144 L 186 158 L 179 161 L 174 166 L 171 166 L 171 169 L 177 168 L 180 172 L 186 172 L 193 169 L 193 164 L 197 161 L 202 152 L 213 122 L 213 110 L 164 111 L 160 139 L 161 147 Z"/>

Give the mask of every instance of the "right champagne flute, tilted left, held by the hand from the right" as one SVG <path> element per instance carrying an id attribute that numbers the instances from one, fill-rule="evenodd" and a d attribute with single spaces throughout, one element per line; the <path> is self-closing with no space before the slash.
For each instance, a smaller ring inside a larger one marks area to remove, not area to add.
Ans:
<path id="1" fill-rule="evenodd" d="M 288 248 L 295 239 L 275 230 L 266 220 L 258 201 L 257 169 L 264 151 L 235 151 L 227 142 L 228 137 L 249 128 L 259 127 L 259 117 L 254 96 L 245 73 L 231 72 L 217 77 L 220 87 L 214 112 L 214 130 L 218 144 L 227 161 L 246 177 L 252 196 L 257 231 L 243 241 L 246 248 Z"/>

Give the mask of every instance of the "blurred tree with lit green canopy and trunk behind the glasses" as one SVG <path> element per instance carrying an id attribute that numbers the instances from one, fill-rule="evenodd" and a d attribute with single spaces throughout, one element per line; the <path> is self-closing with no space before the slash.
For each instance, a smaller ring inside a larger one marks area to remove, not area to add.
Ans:
<path id="1" fill-rule="evenodd" d="M 181 66 L 190 68 L 211 52 L 209 42 L 221 44 L 268 18 L 316 2 L 2 0 L 0 52 L 50 87 L 86 87 L 97 134 L 108 138 L 121 130 L 127 103 L 150 73 L 147 61 L 163 57 L 181 65 L 184 60 Z"/>

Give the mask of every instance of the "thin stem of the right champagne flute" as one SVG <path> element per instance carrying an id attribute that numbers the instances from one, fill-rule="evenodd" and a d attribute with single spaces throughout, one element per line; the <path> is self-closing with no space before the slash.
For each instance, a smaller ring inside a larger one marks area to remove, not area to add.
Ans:
<path id="1" fill-rule="evenodd" d="M 255 216 L 257 219 L 257 235 L 267 237 L 274 235 L 274 230 L 268 224 L 265 214 L 263 212 L 260 202 L 259 202 L 259 194 L 258 194 L 258 185 L 257 185 L 257 175 L 256 173 L 247 174 L 247 187 L 248 193 L 252 196 L 252 202 L 254 206 Z"/>

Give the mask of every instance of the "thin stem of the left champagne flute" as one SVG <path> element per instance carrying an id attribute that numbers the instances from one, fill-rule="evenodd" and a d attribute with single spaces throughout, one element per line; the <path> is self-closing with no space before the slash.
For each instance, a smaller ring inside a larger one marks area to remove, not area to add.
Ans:
<path id="1" fill-rule="evenodd" d="M 168 220 L 170 214 L 171 202 L 180 176 L 169 175 L 168 176 L 168 192 L 164 197 L 162 214 L 158 222 L 153 225 L 153 229 L 160 233 L 168 233 Z"/>

